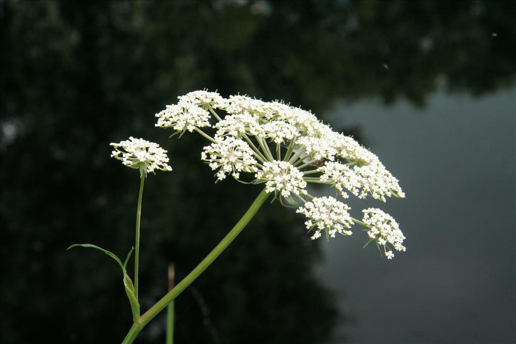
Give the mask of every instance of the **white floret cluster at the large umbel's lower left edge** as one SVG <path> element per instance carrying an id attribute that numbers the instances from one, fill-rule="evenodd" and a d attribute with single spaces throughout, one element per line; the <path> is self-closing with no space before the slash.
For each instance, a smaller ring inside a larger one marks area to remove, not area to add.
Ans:
<path id="1" fill-rule="evenodd" d="M 209 163 L 212 170 L 219 169 L 216 173 L 219 181 L 222 181 L 229 173 L 238 179 L 239 172 L 257 171 L 256 160 L 253 158 L 253 151 L 249 144 L 231 136 L 205 146 L 201 158 Z"/>

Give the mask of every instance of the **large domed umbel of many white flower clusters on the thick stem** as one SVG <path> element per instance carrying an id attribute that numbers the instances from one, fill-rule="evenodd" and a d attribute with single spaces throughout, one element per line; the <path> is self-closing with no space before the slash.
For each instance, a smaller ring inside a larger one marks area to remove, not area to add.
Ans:
<path id="1" fill-rule="evenodd" d="M 360 221 L 336 198 L 314 198 L 307 192 L 308 183 L 317 183 L 334 187 L 336 195 L 345 199 L 349 193 L 382 202 L 391 196 L 405 197 L 398 179 L 353 138 L 334 132 L 310 111 L 281 101 L 264 102 L 245 95 L 225 99 L 208 91 L 178 98 L 177 104 L 156 113 L 156 126 L 180 135 L 197 132 L 211 141 L 201 159 L 216 171 L 217 181 L 231 175 L 242 183 L 265 183 L 266 191 L 281 204 L 299 206 L 297 212 L 307 217 L 309 232 L 314 231 L 312 239 L 323 232 L 326 238 L 351 235 L 349 228 L 358 223 L 367 228 L 367 244 L 375 241 L 387 258 L 394 256 L 392 250 L 405 251 L 398 224 L 382 210 L 366 209 Z M 213 128 L 215 134 L 208 135 L 202 128 Z"/>

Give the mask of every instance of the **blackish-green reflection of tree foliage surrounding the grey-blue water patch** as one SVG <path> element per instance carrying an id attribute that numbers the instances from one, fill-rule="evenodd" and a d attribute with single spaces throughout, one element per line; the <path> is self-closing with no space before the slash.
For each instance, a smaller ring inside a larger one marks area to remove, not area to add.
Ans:
<path id="1" fill-rule="evenodd" d="M 214 184 L 199 138 L 154 129 L 176 96 L 218 89 L 320 112 L 372 96 L 422 106 L 441 79 L 478 95 L 514 79 L 514 14 L 473 1 L 1 2 L 1 341 L 119 342 L 130 327 L 116 264 L 65 252 L 131 248 L 138 173 L 109 142 L 159 142 L 174 168 L 144 192 L 143 309 L 166 291 L 169 261 L 188 273 L 260 192 Z M 178 342 L 316 343 L 348 321 L 301 222 L 264 207 L 176 301 Z M 163 341 L 160 319 L 139 342 Z"/>

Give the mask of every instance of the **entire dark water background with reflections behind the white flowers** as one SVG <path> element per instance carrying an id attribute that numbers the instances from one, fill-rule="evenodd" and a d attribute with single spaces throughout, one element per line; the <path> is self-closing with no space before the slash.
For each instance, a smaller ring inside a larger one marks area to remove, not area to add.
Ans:
<path id="1" fill-rule="evenodd" d="M 174 169 L 143 194 L 142 309 L 247 210 L 260 188 L 215 184 L 204 141 L 154 127 L 204 88 L 311 109 L 369 147 L 407 198 L 349 204 L 390 212 L 407 252 L 358 230 L 314 242 L 267 204 L 176 300 L 177 343 L 516 341 L 514 2 L 2 1 L 0 18 L 3 344 L 130 328 L 116 264 L 65 251 L 133 244 L 138 173 L 110 142 L 158 142 Z M 164 339 L 162 315 L 137 342 Z"/>

